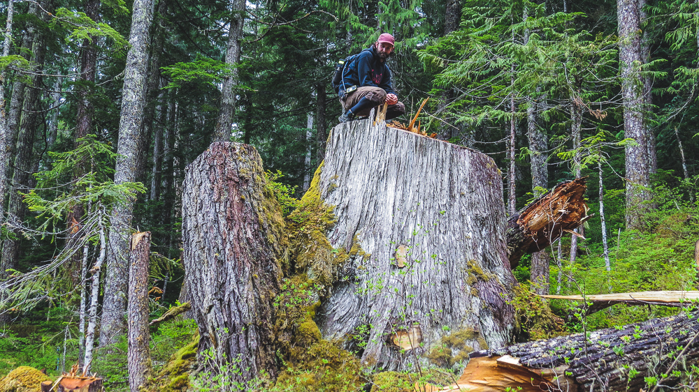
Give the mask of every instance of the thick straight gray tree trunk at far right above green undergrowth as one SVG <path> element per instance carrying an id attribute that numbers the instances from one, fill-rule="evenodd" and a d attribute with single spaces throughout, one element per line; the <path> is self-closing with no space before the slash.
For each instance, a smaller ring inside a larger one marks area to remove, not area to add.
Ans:
<path id="1" fill-rule="evenodd" d="M 624 100 L 624 137 L 635 140 L 626 144 L 626 228 L 640 229 L 644 205 L 651 199 L 649 137 L 643 118 L 644 77 L 642 63 L 639 0 L 617 0 L 619 23 L 619 67 L 621 95 Z"/>

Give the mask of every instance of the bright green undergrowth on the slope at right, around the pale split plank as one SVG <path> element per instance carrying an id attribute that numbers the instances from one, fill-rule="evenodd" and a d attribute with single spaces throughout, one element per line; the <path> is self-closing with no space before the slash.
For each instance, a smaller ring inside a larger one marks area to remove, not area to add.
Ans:
<path id="1" fill-rule="evenodd" d="M 568 259 L 567 243 L 563 243 L 561 294 L 696 289 L 694 246 L 699 239 L 699 204 L 663 189 L 656 188 L 655 207 L 645 216 L 645 229 L 610 233 L 610 271 L 606 269 L 600 242 L 581 241 L 574 264 Z M 591 226 L 587 230 L 586 236 L 598 237 L 595 232 L 598 227 Z M 549 280 L 552 293 L 559 289 L 558 272 L 552 262 Z M 678 311 L 665 306 L 616 305 L 581 319 L 576 316 L 584 313 L 586 304 L 581 301 L 552 300 L 551 306 L 554 312 L 566 318 L 571 331 L 621 326 Z"/>

